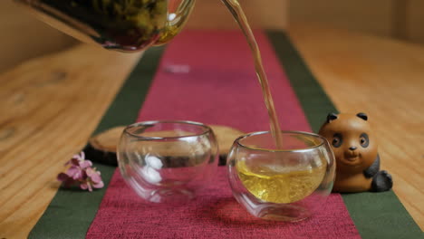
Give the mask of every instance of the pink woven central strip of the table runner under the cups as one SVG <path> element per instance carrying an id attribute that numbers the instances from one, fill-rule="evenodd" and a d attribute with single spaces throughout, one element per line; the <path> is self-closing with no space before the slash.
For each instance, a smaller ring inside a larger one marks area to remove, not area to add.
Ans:
<path id="1" fill-rule="evenodd" d="M 310 131 L 304 112 L 270 43 L 255 33 L 283 129 Z M 169 72 L 175 65 L 189 72 Z M 238 32 L 186 32 L 169 44 L 139 120 L 189 119 L 245 131 L 267 130 L 268 119 L 253 60 Z M 87 238 L 359 238 L 342 196 L 300 223 L 256 219 L 236 203 L 218 170 L 214 185 L 186 206 L 151 206 L 125 185 L 119 171 Z"/>

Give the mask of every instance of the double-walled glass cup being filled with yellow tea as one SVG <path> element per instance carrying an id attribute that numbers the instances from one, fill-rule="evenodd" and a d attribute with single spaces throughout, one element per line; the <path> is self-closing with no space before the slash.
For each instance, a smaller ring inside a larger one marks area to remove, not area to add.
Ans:
<path id="1" fill-rule="evenodd" d="M 319 209 L 332 191 L 334 156 L 319 135 L 283 131 L 275 148 L 270 132 L 236 139 L 227 158 L 236 200 L 251 214 L 278 221 L 300 221 Z"/>

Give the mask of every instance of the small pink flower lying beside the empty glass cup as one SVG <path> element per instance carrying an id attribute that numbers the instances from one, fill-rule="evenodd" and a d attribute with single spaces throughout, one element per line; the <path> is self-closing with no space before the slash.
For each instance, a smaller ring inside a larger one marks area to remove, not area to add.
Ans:
<path id="1" fill-rule="evenodd" d="M 79 185 L 83 190 L 92 192 L 92 187 L 101 188 L 104 186 L 101 180 L 101 172 L 92 167 L 92 161 L 85 159 L 84 152 L 74 155 L 65 166 L 71 165 L 66 173 L 60 173 L 57 180 L 63 182 L 63 186 L 69 187 Z"/>

